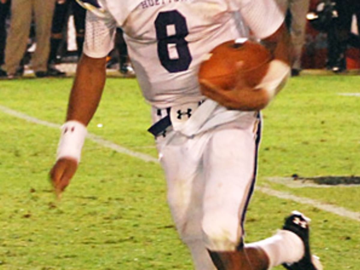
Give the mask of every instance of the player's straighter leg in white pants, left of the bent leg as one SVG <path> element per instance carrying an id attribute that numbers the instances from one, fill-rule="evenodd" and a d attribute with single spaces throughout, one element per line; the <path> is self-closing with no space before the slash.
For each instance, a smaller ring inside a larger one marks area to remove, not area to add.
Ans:
<path id="1" fill-rule="evenodd" d="M 167 133 L 165 138 L 160 136 L 157 146 L 165 171 L 168 204 L 176 229 L 181 240 L 190 249 L 195 269 L 215 269 L 202 239 L 203 177 L 199 167 L 201 143 L 187 141 L 182 136 L 176 136 L 172 142 L 165 143 L 168 136 L 172 136 L 172 133 Z"/>

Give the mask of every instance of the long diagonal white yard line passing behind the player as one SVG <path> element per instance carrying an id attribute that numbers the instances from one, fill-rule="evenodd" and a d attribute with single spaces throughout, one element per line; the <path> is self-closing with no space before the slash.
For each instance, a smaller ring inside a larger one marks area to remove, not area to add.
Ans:
<path id="1" fill-rule="evenodd" d="M 3 113 L 9 114 L 9 115 L 11 115 L 13 117 L 17 117 L 17 118 L 20 118 L 22 120 L 25 120 L 27 122 L 31 122 L 31 123 L 35 123 L 37 125 L 43 125 L 43 126 L 51 127 L 51 128 L 55 128 L 55 129 L 60 129 L 60 125 L 58 125 L 58 124 L 51 123 L 51 122 L 48 122 L 48 121 L 43 121 L 43 120 L 40 120 L 38 118 L 28 116 L 27 114 L 15 111 L 13 109 L 10 109 L 10 108 L 2 106 L 2 105 L 0 105 L 0 111 L 3 112 Z M 135 158 L 139 158 L 139 159 L 141 159 L 143 161 L 146 161 L 146 162 L 151 161 L 151 162 L 159 163 L 158 159 L 156 159 L 156 158 L 154 158 L 152 156 L 129 150 L 129 149 L 127 149 L 125 147 L 122 147 L 120 145 L 117 145 L 117 144 L 115 144 L 115 143 L 113 143 L 111 141 L 102 139 L 100 136 L 97 136 L 95 134 L 89 133 L 87 135 L 87 138 L 89 140 L 91 140 L 91 141 L 94 141 L 95 143 L 98 143 L 98 144 L 102 145 L 103 147 L 110 148 L 110 149 L 112 149 L 112 150 L 114 150 L 114 151 L 116 151 L 118 153 L 126 154 L 128 156 L 135 157 Z M 290 193 L 281 192 L 281 191 L 266 188 L 266 187 L 259 187 L 258 186 L 256 188 L 256 190 L 258 190 L 258 191 L 260 191 L 262 193 L 265 193 L 267 195 L 273 196 L 273 197 L 277 197 L 277 198 L 280 198 L 280 199 L 291 200 L 291 201 L 302 203 L 302 204 L 309 204 L 309 205 L 312 205 L 312 206 L 314 206 L 316 208 L 319 208 L 321 210 L 336 214 L 338 216 L 343 216 L 343 217 L 347 217 L 349 219 L 360 221 L 360 212 L 352 212 L 352 211 L 347 210 L 347 209 L 345 209 L 343 207 L 338 207 L 338 206 L 326 204 L 326 203 L 316 201 L 316 200 L 313 200 L 313 199 L 309 199 L 309 198 L 305 198 L 305 197 L 298 197 L 298 196 L 292 195 Z"/>

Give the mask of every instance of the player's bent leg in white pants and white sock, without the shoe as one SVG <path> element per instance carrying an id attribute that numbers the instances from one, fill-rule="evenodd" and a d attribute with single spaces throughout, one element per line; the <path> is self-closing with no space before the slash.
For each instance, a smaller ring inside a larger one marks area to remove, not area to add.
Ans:
<path id="1" fill-rule="evenodd" d="M 299 261 L 304 256 L 303 240 L 291 230 L 281 230 L 264 241 L 243 245 L 242 224 L 256 172 L 255 123 L 254 120 L 248 127 L 217 131 L 204 154 L 208 176 L 202 228 L 217 269 L 268 269 Z"/>

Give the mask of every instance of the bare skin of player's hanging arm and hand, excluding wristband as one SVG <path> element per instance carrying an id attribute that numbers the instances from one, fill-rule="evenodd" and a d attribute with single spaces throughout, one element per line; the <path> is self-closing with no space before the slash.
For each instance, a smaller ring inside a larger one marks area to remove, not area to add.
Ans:
<path id="1" fill-rule="evenodd" d="M 69 130 L 63 128 L 63 132 L 71 132 L 72 128 L 79 129 L 80 134 L 84 134 L 84 129 L 86 132 L 86 126 L 93 117 L 103 92 L 105 63 L 105 58 L 91 58 L 85 54 L 82 55 L 71 90 L 66 117 L 67 123 L 73 123 L 73 126 L 69 126 Z M 75 143 L 77 143 L 76 140 Z M 71 154 L 67 156 L 65 153 L 57 159 L 50 171 L 50 178 L 58 195 L 69 184 L 76 172 L 77 165 L 78 158 Z"/>

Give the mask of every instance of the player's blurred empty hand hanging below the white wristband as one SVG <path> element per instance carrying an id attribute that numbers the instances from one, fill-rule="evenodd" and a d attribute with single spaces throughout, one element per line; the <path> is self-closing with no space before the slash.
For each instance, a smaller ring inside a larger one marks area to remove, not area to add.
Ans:
<path id="1" fill-rule="evenodd" d="M 77 169 L 77 161 L 72 158 L 60 158 L 50 171 L 50 181 L 55 194 L 60 198 L 62 192 L 69 185 Z"/>

